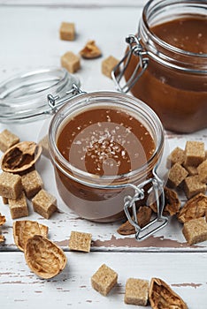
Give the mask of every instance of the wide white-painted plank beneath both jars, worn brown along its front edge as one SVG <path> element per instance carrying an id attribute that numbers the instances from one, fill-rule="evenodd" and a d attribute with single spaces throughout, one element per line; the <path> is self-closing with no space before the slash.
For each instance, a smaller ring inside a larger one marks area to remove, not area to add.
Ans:
<path id="1" fill-rule="evenodd" d="M 133 8 L 80 10 L 60 8 L 21 8 L 0 6 L 0 80 L 3 81 L 19 72 L 36 70 L 42 66 L 59 66 L 60 56 L 68 49 L 74 52 L 84 46 L 89 38 L 96 39 L 103 50 L 103 57 L 113 55 L 122 57 L 126 48 L 126 34 L 135 31 L 141 10 Z M 32 19 L 31 19 L 32 16 Z M 127 21 L 126 21 L 127 17 Z M 60 41 L 58 28 L 61 21 L 73 20 L 77 25 L 78 36 L 75 41 Z M 86 20 L 88 21 L 86 23 Z M 114 20 L 116 22 L 114 22 Z M 124 22 L 123 22 L 124 21 Z M 15 29 L 15 31 L 14 31 Z M 111 31 L 112 29 L 112 31 Z M 94 61 L 82 60 L 82 69 L 76 76 L 80 78 L 84 90 L 114 90 L 111 79 L 101 73 L 103 58 Z M 38 141 L 46 134 L 50 119 L 35 124 L 0 124 L 0 132 L 8 128 L 19 135 L 21 140 Z M 174 147 L 184 147 L 187 140 L 203 140 L 207 147 L 207 130 L 193 134 L 178 135 L 166 132 L 165 155 L 160 164 L 160 173 L 165 173 L 165 158 Z M 207 242 L 188 246 L 181 233 L 181 224 L 172 218 L 165 230 L 160 230 L 155 237 L 144 242 L 137 242 L 132 237 L 122 237 L 117 233 L 120 222 L 100 224 L 82 220 L 65 206 L 58 196 L 54 172 L 48 159 L 42 157 L 37 169 L 40 171 L 45 188 L 58 198 L 58 214 L 49 221 L 33 212 L 29 204 L 29 220 L 37 220 L 50 227 L 50 239 L 68 250 L 71 230 L 88 231 L 93 235 L 94 251 L 206 251 Z M 181 196 L 182 202 L 185 197 Z M 16 250 L 12 238 L 12 219 L 9 208 L 0 201 L 0 212 L 6 215 L 3 227 L 6 237 L 4 251 Z"/>

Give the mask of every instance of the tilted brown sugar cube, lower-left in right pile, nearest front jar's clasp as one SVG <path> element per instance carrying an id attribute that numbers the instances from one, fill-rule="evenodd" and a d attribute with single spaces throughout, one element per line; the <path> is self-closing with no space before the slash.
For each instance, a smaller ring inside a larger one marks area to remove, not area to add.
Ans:
<path id="1" fill-rule="evenodd" d="M 176 187 L 188 176 L 188 171 L 185 170 L 179 163 L 175 163 L 169 170 L 168 183 L 172 187 Z"/>

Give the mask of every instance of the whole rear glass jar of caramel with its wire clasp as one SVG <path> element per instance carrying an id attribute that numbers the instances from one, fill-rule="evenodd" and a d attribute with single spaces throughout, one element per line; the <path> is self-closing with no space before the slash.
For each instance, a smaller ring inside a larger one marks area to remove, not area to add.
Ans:
<path id="1" fill-rule="evenodd" d="M 173 132 L 207 127 L 206 11 L 206 1 L 149 1 L 112 74 L 119 91 L 131 90 Z"/>

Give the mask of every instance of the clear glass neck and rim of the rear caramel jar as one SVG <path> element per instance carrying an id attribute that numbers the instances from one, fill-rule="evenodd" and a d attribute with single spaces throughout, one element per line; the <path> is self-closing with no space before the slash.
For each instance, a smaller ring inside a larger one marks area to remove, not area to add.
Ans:
<path id="1" fill-rule="evenodd" d="M 151 27 L 180 18 L 206 19 L 207 3 L 183 0 L 150 0 L 142 11 L 138 36 L 149 58 L 176 70 L 207 73 L 207 54 L 179 49 L 153 33 Z M 181 12 L 181 13 L 180 13 Z"/>

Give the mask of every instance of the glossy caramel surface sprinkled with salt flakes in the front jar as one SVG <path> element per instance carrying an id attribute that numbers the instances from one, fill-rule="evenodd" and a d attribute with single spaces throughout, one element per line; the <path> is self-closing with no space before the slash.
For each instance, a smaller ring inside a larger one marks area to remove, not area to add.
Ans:
<path id="1" fill-rule="evenodd" d="M 119 109 L 89 109 L 67 120 L 57 146 L 73 167 L 98 176 L 126 174 L 149 161 L 155 143 L 145 126 Z"/>

